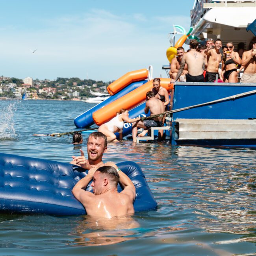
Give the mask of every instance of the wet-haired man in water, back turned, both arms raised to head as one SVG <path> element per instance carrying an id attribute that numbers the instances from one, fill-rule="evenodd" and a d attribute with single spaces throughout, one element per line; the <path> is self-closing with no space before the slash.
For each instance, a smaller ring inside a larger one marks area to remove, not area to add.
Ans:
<path id="1" fill-rule="evenodd" d="M 134 213 L 134 184 L 126 174 L 117 170 L 113 166 L 92 168 L 72 189 L 72 193 L 83 204 L 88 215 L 111 219 Z M 93 193 L 84 190 L 91 179 Z M 124 188 L 121 193 L 117 192 L 118 183 Z"/>

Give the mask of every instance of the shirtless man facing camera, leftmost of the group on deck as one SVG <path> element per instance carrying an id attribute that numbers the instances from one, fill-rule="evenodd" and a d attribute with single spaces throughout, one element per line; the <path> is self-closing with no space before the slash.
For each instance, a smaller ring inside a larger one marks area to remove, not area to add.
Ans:
<path id="1" fill-rule="evenodd" d="M 183 47 L 178 47 L 177 48 L 177 57 L 173 58 L 171 61 L 171 70 L 169 72 L 170 78 L 176 79 L 177 73 L 180 69 L 180 63 L 182 60 L 182 57 L 185 54 L 185 50 Z M 186 74 L 188 73 L 187 71 L 187 64 L 184 67 L 184 70 L 182 74 L 180 75 L 179 81 L 178 82 L 186 82 Z"/>

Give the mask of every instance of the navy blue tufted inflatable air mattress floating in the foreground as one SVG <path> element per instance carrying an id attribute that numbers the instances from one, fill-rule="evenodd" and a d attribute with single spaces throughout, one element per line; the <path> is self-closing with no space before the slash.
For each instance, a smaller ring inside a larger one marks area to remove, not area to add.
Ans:
<path id="1" fill-rule="evenodd" d="M 156 200 L 139 165 L 125 161 L 117 166 L 135 185 L 135 211 L 155 210 Z M 72 194 L 86 174 L 85 169 L 69 163 L 0 153 L 0 212 L 86 214 Z"/>

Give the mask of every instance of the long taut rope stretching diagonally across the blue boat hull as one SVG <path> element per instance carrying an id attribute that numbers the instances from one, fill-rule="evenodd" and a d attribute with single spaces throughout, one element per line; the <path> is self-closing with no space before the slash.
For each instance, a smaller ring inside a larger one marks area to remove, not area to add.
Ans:
<path id="1" fill-rule="evenodd" d="M 209 101 L 209 102 L 204 102 L 204 103 L 193 105 L 193 106 L 188 106 L 185 108 L 178 108 L 178 109 L 174 109 L 174 110 L 165 111 L 165 112 L 157 114 L 157 115 L 151 115 L 150 117 L 141 117 L 140 120 L 144 121 L 144 120 L 152 119 L 154 117 L 163 117 L 163 116 L 169 115 L 171 113 L 176 113 L 176 112 L 180 112 L 180 111 L 184 111 L 184 110 L 192 109 L 192 108 L 208 106 L 208 105 L 216 104 L 216 103 L 223 102 L 223 101 L 236 100 L 237 98 L 242 98 L 242 97 L 246 97 L 246 96 L 253 95 L 253 94 L 256 94 L 256 90 L 248 91 L 246 93 L 239 93 L 236 95 L 228 96 L 225 98 L 220 98 L 218 100 L 213 100 L 213 101 Z"/>

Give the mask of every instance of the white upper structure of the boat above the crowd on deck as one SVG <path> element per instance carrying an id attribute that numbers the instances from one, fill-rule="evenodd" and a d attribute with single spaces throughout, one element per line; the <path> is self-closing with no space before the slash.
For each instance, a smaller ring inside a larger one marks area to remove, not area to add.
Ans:
<path id="1" fill-rule="evenodd" d="M 246 28 L 256 19 L 256 0 L 195 0 L 191 10 L 191 35 L 204 41 L 207 38 L 233 42 L 248 48 L 254 36 Z M 188 43 L 188 41 L 186 42 Z"/>

